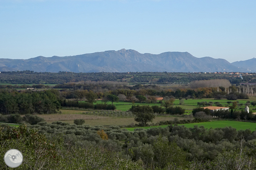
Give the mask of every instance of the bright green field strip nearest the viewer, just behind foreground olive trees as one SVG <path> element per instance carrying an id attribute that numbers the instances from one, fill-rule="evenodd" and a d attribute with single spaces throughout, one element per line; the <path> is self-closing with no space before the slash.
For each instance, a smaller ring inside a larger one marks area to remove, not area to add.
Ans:
<path id="1" fill-rule="evenodd" d="M 213 121 L 213 122 L 204 122 L 204 123 L 189 123 L 189 124 L 179 124 L 179 125 L 184 125 L 185 127 L 194 127 L 195 125 L 197 126 L 204 126 L 207 129 L 210 128 L 217 128 L 217 127 L 226 127 L 226 126 L 231 126 L 236 128 L 236 130 L 245 130 L 245 129 L 251 129 L 251 131 L 255 131 L 256 128 L 256 123 L 249 123 L 249 122 L 238 122 L 238 121 Z M 144 129 L 149 129 L 153 127 L 167 127 L 168 125 L 163 125 L 163 126 L 151 126 L 151 127 L 141 127 Z M 128 131 L 134 131 L 138 127 L 131 127 L 131 128 L 126 128 Z"/>

